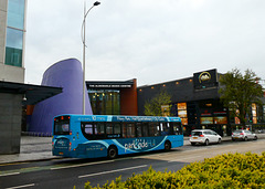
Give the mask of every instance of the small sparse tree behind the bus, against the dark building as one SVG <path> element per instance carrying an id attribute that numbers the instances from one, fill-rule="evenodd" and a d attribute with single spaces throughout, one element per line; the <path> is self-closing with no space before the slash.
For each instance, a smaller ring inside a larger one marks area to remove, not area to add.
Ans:
<path id="1" fill-rule="evenodd" d="M 157 96 L 146 102 L 145 115 L 147 116 L 163 116 L 165 114 L 170 115 L 171 108 L 170 104 L 171 96 L 166 91 L 161 91 Z M 162 109 L 163 105 L 168 105 L 167 112 Z"/>

